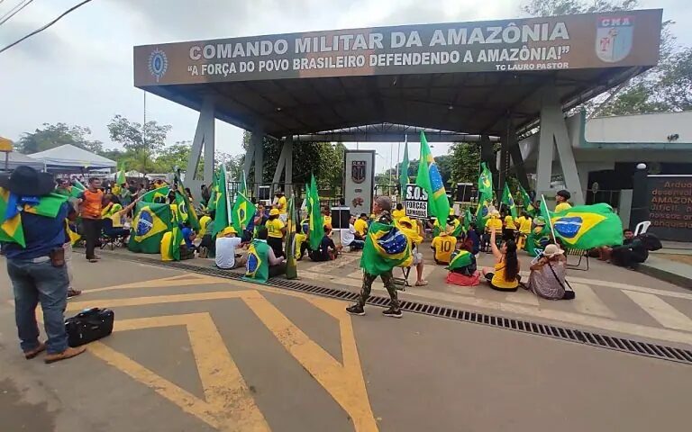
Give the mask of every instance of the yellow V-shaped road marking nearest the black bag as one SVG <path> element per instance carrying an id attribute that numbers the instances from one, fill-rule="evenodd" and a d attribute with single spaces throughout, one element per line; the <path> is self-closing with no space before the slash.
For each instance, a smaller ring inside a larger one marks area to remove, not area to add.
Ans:
<path id="1" fill-rule="evenodd" d="M 269 425 L 252 398 L 223 338 L 207 312 L 117 320 L 114 331 L 186 326 L 205 401 L 132 361 L 128 356 L 97 342 L 89 352 L 214 428 L 227 431 L 267 431 Z"/>

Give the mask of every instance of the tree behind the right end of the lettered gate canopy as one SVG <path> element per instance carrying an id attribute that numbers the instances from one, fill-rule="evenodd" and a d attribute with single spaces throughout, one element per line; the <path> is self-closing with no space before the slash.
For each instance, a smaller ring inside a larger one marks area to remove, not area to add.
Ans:
<path id="1" fill-rule="evenodd" d="M 639 0 L 531 0 L 522 10 L 533 16 L 629 11 Z M 689 109 L 692 100 L 690 49 L 680 49 L 670 31 L 674 23 L 662 23 L 658 67 L 634 76 L 584 104 L 589 117 Z"/>

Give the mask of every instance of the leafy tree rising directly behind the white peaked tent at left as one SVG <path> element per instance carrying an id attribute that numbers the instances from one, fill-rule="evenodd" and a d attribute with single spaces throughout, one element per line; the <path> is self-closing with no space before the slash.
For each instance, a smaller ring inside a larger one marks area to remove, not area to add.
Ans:
<path id="1" fill-rule="evenodd" d="M 23 133 L 16 143 L 16 150 L 25 154 L 32 154 L 71 144 L 94 153 L 100 153 L 103 150 L 103 143 L 87 139 L 90 134 L 91 130 L 82 126 L 70 126 L 66 123 L 43 123 L 42 129 L 37 128 L 33 132 Z"/>

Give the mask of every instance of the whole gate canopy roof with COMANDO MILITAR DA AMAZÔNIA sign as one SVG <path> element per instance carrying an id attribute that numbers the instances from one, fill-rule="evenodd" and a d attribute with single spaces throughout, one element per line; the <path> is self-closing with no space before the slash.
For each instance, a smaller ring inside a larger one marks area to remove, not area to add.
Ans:
<path id="1" fill-rule="evenodd" d="M 312 31 L 134 48 L 135 85 L 283 137 L 374 123 L 521 132 L 654 66 L 662 11 Z M 553 87 L 551 87 L 553 88 Z M 552 92 L 553 90 L 551 90 Z"/>

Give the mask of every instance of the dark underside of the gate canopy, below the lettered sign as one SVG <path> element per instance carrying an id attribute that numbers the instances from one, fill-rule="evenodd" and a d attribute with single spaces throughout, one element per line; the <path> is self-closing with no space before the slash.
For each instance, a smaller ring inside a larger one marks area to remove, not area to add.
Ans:
<path id="1" fill-rule="evenodd" d="M 520 126 L 537 120 L 542 85 L 554 82 L 569 109 L 641 71 L 336 76 L 142 88 L 194 110 L 213 95 L 218 119 L 274 137 L 382 122 L 501 135 L 509 112 Z"/>

